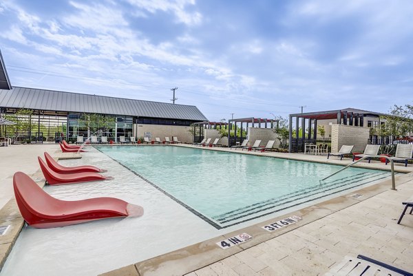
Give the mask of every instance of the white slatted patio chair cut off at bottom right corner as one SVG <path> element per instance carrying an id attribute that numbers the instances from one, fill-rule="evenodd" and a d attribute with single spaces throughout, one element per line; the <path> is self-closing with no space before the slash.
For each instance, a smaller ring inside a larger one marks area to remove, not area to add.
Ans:
<path id="1" fill-rule="evenodd" d="M 377 275 L 377 276 L 413 276 L 400 268 L 390 266 L 376 259 L 372 259 L 363 255 L 358 255 L 357 258 L 346 256 L 337 262 L 328 273 L 324 276 L 361 276 L 361 275 Z"/>

